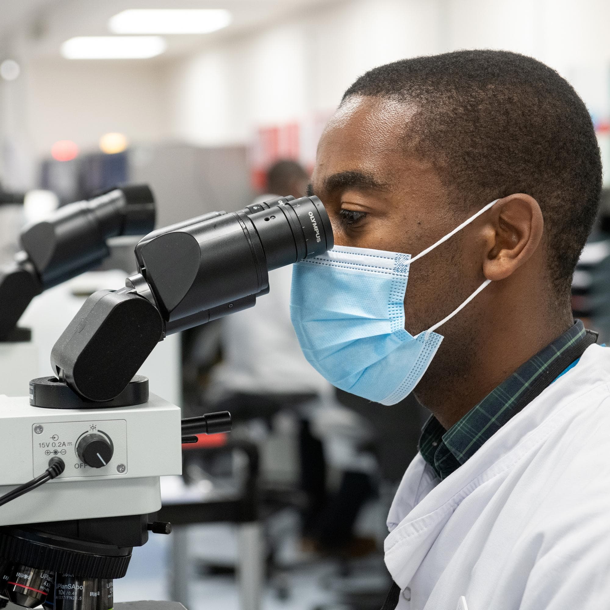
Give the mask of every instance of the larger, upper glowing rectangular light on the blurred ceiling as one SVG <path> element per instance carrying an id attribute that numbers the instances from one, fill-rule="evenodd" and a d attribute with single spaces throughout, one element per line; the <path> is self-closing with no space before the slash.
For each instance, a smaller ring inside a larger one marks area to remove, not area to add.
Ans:
<path id="1" fill-rule="evenodd" d="M 129 9 L 110 18 L 114 34 L 209 34 L 231 23 L 226 9 Z"/>

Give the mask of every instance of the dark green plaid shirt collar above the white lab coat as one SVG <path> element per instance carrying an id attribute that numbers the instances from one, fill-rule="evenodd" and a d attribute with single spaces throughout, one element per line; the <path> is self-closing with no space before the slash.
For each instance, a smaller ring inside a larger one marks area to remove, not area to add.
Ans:
<path id="1" fill-rule="evenodd" d="M 419 450 L 423 459 L 441 479 L 447 478 L 508 422 L 514 415 L 511 407 L 542 370 L 567 347 L 585 337 L 583 323 L 576 320 L 572 328 L 522 364 L 447 431 L 432 415 L 420 437 Z"/>

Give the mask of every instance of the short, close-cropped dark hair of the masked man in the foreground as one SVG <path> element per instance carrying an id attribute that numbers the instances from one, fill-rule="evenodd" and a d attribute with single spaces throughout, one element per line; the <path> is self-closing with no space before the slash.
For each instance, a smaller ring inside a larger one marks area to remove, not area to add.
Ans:
<path id="1" fill-rule="evenodd" d="M 469 209 L 511 193 L 535 198 L 550 280 L 557 296 L 569 293 L 597 215 L 601 158 L 589 112 L 563 77 L 519 53 L 456 51 L 374 68 L 350 96 L 414 104 L 409 152 L 431 160 Z"/>

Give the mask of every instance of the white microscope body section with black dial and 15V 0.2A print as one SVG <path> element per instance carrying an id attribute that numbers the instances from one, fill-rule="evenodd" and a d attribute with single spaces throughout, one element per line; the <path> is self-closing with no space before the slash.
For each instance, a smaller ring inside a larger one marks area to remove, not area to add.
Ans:
<path id="1" fill-rule="evenodd" d="M 83 459 L 92 435 L 112 445 L 105 466 Z M 2 526 L 156 512 L 159 477 L 182 473 L 180 409 L 154 394 L 138 406 L 90 410 L 1 397 L 0 446 L 0 495 L 45 472 L 52 456 L 65 462 L 56 479 L 0 506 Z"/>

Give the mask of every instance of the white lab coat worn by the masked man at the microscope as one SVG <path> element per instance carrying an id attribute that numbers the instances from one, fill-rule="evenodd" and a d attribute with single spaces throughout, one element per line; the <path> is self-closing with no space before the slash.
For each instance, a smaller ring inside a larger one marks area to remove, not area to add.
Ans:
<path id="1" fill-rule="evenodd" d="M 587 348 L 444 481 L 418 454 L 388 526 L 400 610 L 609 609 L 610 348 Z"/>

